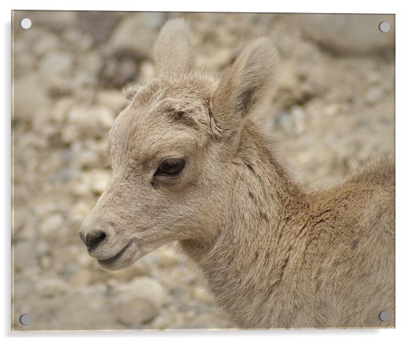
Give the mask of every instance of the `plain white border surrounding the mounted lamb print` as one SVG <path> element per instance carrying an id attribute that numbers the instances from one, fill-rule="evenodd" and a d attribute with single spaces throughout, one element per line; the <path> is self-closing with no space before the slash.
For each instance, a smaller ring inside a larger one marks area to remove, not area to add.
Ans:
<path id="1" fill-rule="evenodd" d="M 112 342 L 114 338 L 136 340 L 151 338 L 187 342 L 235 339 L 248 342 L 250 339 L 270 342 L 405 342 L 410 339 L 411 325 L 411 230 L 409 207 L 411 192 L 411 168 L 407 156 L 411 156 L 411 12 L 407 1 L 1 1 L 3 40 L 1 45 L 1 103 L 3 104 L 2 144 L 0 149 L 1 202 L 0 217 L 3 226 L 3 263 L 1 264 L 4 282 L 1 283 L 1 332 L 6 340 L 32 342 L 44 340 L 81 340 L 98 338 L 100 342 Z M 152 10 L 191 12 L 329 12 L 329 13 L 395 13 L 396 14 L 396 329 L 383 330 L 322 330 L 322 331 L 173 331 L 173 332 L 125 332 L 125 333 L 10 333 L 10 10 Z"/>

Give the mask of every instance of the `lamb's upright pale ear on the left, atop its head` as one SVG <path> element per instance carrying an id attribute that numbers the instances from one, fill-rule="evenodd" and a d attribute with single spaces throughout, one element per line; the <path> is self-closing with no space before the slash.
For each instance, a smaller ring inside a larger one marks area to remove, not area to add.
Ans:
<path id="1" fill-rule="evenodd" d="M 190 29 L 183 19 L 172 19 L 164 25 L 154 50 L 159 75 L 187 73 L 194 67 Z"/>

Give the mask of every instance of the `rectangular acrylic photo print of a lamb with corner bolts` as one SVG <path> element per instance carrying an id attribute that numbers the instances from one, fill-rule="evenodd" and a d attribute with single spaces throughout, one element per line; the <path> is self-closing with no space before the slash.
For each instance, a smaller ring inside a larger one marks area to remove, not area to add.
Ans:
<path id="1" fill-rule="evenodd" d="M 12 12 L 12 329 L 395 327 L 394 31 Z"/>

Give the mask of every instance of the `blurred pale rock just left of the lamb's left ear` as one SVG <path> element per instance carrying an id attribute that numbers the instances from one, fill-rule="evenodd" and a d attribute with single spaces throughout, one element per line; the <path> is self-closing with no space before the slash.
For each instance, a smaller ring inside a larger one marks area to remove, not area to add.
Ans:
<path id="1" fill-rule="evenodd" d="M 164 22 L 161 12 L 140 12 L 123 19 L 107 42 L 109 55 L 131 55 L 137 60 L 151 57 L 157 29 Z"/>

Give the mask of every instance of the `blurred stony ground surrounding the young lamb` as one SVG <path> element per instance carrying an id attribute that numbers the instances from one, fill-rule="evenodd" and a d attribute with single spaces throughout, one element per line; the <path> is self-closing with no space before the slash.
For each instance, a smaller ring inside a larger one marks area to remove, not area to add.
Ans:
<path id="1" fill-rule="evenodd" d="M 155 75 L 157 31 L 180 16 L 199 66 L 224 71 L 256 36 L 279 47 L 278 88 L 258 116 L 302 183 L 321 187 L 394 154 L 394 16 L 14 11 L 15 330 L 235 327 L 175 243 L 106 272 L 77 235 L 110 177 L 122 87 Z"/>

